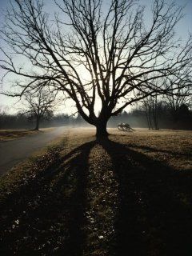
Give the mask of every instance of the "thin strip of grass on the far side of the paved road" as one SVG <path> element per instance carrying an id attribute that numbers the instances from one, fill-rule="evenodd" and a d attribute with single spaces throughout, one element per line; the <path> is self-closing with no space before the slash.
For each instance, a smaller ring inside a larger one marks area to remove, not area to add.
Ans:
<path id="1" fill-rule="evenodd" d="M 40 130 L 0 130 L 0 142 L 9 141 L 16 138 L 26 137 L 28 135 L 38 134 L 51 130 L 51 128 L 43 128 Z"/>

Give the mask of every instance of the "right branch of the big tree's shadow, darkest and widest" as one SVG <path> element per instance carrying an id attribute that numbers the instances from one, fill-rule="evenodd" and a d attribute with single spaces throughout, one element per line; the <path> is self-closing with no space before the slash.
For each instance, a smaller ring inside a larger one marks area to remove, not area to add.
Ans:
<path id="1" fill-rule="evenodd" d="M 191 255 L 191 173 L 174 171 L 145 154 L 110 140 L 118 181 L 115 246 L 110 255 Z"/>

